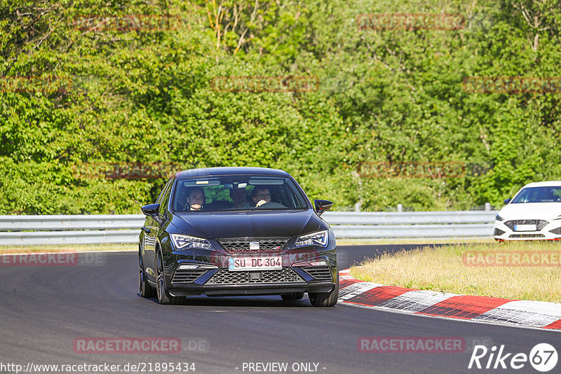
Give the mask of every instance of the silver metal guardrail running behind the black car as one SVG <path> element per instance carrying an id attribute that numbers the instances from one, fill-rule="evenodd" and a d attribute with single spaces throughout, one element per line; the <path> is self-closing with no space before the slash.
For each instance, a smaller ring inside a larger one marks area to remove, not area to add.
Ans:
<path id="1" fill-rule="evenodd" d="M 495 211 L 325 212 L 338 239 L 492 237 Z M 0 245 L 135 243 L 142 214 L 0 216 Z"/>

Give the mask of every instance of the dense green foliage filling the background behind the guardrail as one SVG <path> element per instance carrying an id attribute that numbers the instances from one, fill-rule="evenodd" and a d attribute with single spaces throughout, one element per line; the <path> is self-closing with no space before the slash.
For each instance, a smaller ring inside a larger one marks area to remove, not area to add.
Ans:
<path id="1" fill-rule="evenodd" d="M 372 29 L 366 13 L 465 22 Z M 155 200 L 164 172 L 88 172 L 113 164 L 285 169 L 335 209 L 499 206 L 561 179 L 561 88 L 463 81 L 560 77 L 560 31 L 558 0 L 4 0 L 0 214 L 138 213 Z M 258 78 L 232 89 L 243 76 Z M 221 89 L 224 77 L 238 81 Z M 266 77 L 288 83 L 265 92 Z M 299 77 L 315 81 L 283 89 Z M 372 173 L 403 163 L 466 167 Z"/>

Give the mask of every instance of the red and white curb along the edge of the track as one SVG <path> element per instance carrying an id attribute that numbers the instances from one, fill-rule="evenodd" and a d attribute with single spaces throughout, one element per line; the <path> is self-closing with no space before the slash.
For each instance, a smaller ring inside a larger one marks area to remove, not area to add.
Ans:
<path id="1" fill-rule="evenodd" d="M 419 291 L 364 282 L 339 272 L 339 302 L 432 317 L 561 331 L 561 304 Z"/>

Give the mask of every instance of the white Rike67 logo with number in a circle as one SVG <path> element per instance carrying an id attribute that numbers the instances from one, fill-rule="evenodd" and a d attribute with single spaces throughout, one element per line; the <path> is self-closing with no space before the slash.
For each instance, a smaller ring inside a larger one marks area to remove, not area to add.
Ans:
<path id="1" fill-rule="evenodd" d="M 489 354 L 487 356 L 487 354 Z M 553 345 L 540 343 L 535 345 L 529 354 L 507 353 L 504 345 L 501 345 L 497 352 L 496 345 L 487 349 L 485 345 L 476 345 L 469 360 L 468 369 L 521 369 L 530 363 L 535 370 L 546 373 L 557 365 L 557 350 Z M 475 364 L 475 366 L 474 366 Z"/>

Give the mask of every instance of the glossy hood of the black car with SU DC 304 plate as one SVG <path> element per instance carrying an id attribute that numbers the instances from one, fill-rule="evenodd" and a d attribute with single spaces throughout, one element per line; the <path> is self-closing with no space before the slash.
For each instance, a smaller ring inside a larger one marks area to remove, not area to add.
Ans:
<path id="1" fill-rule="evenodd" d="M 177 213 L 172 223 L 185 235 L 212 239 L 292 237 L 329 227 L 312 209 Z"/>

